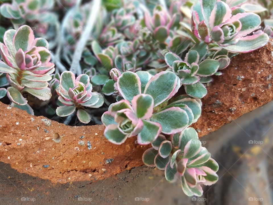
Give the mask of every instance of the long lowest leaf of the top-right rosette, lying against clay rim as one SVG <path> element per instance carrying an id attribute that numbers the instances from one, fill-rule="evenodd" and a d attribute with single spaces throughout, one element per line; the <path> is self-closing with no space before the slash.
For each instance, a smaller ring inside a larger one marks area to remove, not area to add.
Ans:
<path id="1" fill-rule="evenodd" d="M 265 33 L 253 34 L 252 36 L 240 38 L 235 45 L 225 46 L 223 48 L 234 53 L 249 53 L 266 45 L 268 40 L 269 37 Z"/>

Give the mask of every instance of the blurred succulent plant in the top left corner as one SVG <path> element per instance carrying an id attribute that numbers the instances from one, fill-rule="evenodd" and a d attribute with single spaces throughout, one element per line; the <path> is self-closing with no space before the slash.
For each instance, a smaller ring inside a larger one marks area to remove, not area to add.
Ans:
<path id="1" fill-rule="evenodd" d="M 0 11 L 4 17 L 18 25 L 26 21 L 52 23 L 57 21 L 56 15 L 50 12 L 53 6 L 53 0 L 12 0 L 12 4 L 2 4 Z"/>

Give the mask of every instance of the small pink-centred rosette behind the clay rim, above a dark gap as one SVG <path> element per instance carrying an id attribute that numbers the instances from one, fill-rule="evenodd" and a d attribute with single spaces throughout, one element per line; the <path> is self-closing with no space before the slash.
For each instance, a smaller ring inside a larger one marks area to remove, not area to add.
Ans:
<path id="1" fill-rule="evenodd" d="M 86 74 L 76 78 L 70 71 L 63 72 L 56 92 L 59 95 L 58 100 L 63 103 L 63 106 L 57 107 L 56 114 L 65 117 L 77 109 L 77 117 L 82 123 L 91 121 L 91 115 L 86 111 L 86 107 L 98 108 L 104 103 L 100 93 L 92 92 L 92 84 Z"/>

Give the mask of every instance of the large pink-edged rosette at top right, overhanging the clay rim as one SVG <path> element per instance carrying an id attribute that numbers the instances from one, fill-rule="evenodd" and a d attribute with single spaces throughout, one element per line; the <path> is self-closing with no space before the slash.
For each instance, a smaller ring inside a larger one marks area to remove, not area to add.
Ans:
<path id="1" fill-rule="evenodd" d="M 230 8 L 224 1 L 217 0 L 200 0 L 200 4 L 193 7 L 191 19 L 192 32 L 198 39 L 215 42 L 236 53 L 251 52 L 268 42 L 267 34 L 255 32 L 260 24 L 257 14 L 240 7 Z"/>

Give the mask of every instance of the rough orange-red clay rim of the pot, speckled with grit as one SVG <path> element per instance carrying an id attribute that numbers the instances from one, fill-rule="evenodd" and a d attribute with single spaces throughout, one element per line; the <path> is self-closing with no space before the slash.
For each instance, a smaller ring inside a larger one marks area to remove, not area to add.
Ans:
<path id="1" fill-rule="evenodd" d="M 214 77 L 202 99 L 202 116 L 193 125 L 200 137 L 273 100 L 272 42 L 235 56 L 223 75 Z M 135 143 L 135 137 L 113 145 L 103 137 L 103 125 L 49 123 L 3 103 L 0 110 L 0 161 L 20 173 L 53 183 L 92 182 L 143 164 L 147 146 Z"/>

